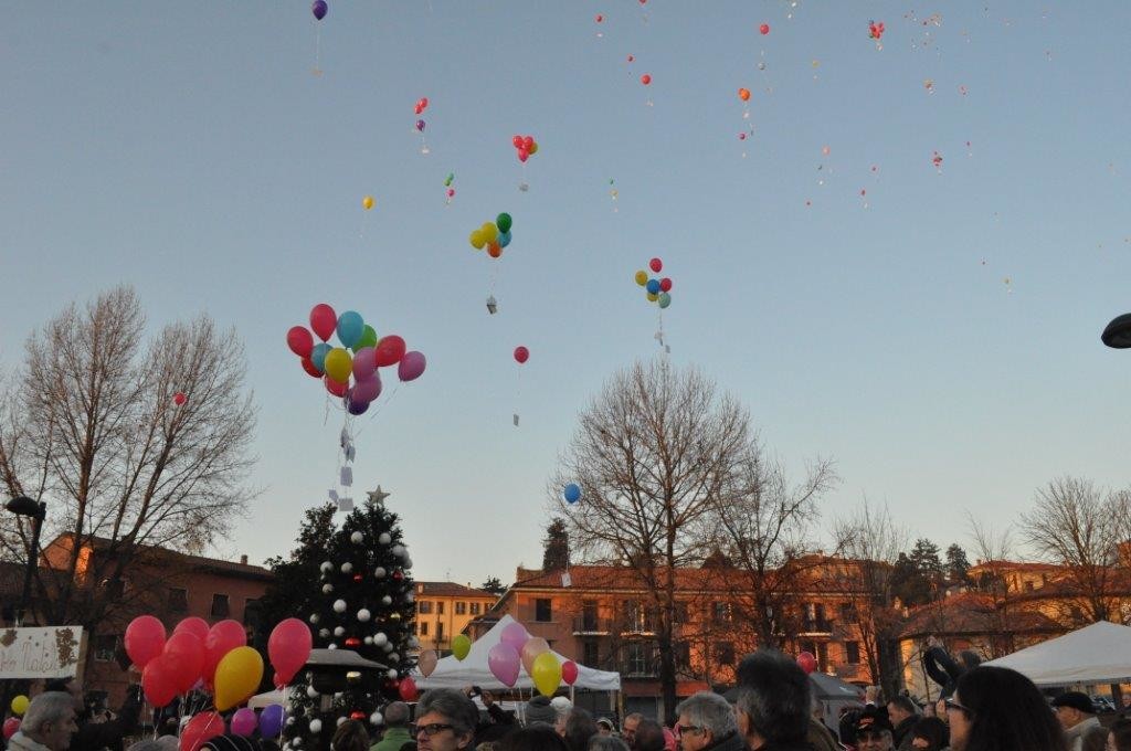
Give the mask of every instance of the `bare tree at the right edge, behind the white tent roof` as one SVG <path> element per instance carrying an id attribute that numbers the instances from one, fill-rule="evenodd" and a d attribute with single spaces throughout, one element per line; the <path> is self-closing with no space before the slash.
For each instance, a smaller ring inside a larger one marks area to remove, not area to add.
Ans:
<path id="1" fill-rule="evenodd" d="M 1119 613 L 1116 595 L 1126 588 L 1125 572 L 1117 568 L 1119 551 L 1129 536 L 1131 493 L 1063 476 L 1038 489 L 1035 501 L 1036 507 L 1021 517 L 1025 541 L 1037 555 L 1064 567 L 1085 622 L 1106 621 Z"/>

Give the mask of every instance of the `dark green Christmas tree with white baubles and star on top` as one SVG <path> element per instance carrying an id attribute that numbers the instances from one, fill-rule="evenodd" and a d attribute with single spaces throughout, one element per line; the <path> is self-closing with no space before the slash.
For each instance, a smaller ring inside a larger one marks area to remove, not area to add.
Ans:
<path id="1" fill-rule="evenodd" d="M 382 671 L 309 671 L 295 676 L 291 687 L 293 716 L 285 728 L 286 746 L 302 751 L 328 751 L 338 724 L 360 719 L 374 732 L 381 724 L 381 709 L 408 692 L 402 680 L 415 664 L 409 656 L 418 647 L 413 636 L 415 604 L 408 573 L 412 560 L 402 538 L 397 515 L 385 508 L 388 493 L 369 493 L 342 526 L 325 535 L 310 534 L 312 527 L 325 529 L 325 513 L 308 513 L 300 542 L 325 544 L 323 549 L 303 545 L 292 552 L 293 567 L 284 586 L 296 587 L 295 570 L 314 579 L 311 561 L 322 558 L 317 579 L 305 592 L 274 592 L 276 601 L 290 598 L 292 614 L 310 623 L 316 648 L 355 651 L 364 659 L 385 665 Z M 330 523 L 333 524 L 333 523 Z M 286 562 L 280 562 L 286 567 Z"/>

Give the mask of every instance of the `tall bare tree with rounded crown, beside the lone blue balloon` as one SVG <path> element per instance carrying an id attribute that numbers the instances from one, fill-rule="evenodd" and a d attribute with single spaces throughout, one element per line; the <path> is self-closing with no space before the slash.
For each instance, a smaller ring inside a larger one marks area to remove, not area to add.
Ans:
<path id="1" fill-rule="evenodd" d="M 550 483 L 573 550 L 590 562 L 624 562 L 654 608 L 664 711 L 674 719 L 673 632 L 679 569 L 708 553 L 698 523 L 735 484 L 750 417 L 700 371 L 666 360 L 615 374 L 579 416 Z M 567 506 L 563 484 L 581 486 Z"/>

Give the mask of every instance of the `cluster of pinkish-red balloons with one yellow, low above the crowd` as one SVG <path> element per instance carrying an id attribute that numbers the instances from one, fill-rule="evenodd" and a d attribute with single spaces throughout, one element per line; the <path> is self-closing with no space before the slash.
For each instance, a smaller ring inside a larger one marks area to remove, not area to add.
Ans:
<path id="1" fill-rule="evenodd" d="M 277 685 L 288 683 L 307 664 L 311 644 L 310 629 L 297 619 L 275 627 L 268 655 Z M 124 646 L 141 671 L 141 690 L 154 707 L 204 688 L 213 692 L 216 709 L 226 711 L 251 698 L 264 677 L 264 658 L 248 646 L 239 621 L 209 627 L 201 618 L 187 618 L 166 638 L 164 623 L 139 615 L 126 628 Z"/>

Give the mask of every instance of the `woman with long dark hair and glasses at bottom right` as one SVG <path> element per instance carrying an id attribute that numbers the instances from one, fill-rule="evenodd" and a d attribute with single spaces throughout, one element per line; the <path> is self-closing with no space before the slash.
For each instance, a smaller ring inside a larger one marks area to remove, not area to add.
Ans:
<path id="1" fill-rule="evenodd" d="M 1033 681 L 1008 667 L 962 673 L 947 699 L 951 751 L 1068 751 L 1064 733 Z"/>

